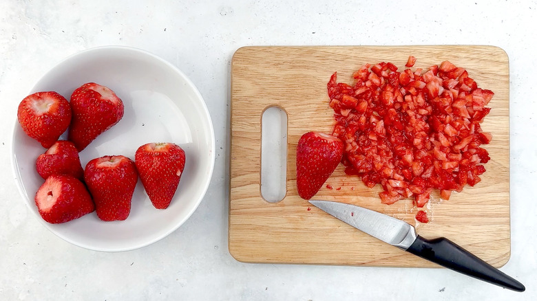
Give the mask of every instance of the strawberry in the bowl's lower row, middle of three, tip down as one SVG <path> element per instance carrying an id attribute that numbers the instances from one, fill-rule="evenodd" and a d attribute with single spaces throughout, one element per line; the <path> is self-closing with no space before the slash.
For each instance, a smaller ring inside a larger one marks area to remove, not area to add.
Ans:
<path id="1" fill-rule="evenodd" d="M 131 212 L 131 201 L 138 172 L 131 159 L 104 156 L 87 162 L 84 179 L 103 221 L 124 221 Z"/>

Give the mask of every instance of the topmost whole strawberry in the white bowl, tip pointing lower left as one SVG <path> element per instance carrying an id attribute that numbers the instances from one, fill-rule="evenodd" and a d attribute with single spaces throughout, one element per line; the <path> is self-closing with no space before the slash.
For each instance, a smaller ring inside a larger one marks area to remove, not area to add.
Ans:
<path id="1" fill-rule="evenodd" d="M 123 118 L 123 102 L 107 87 L 88 82 L 71 96 L 73 120 L 69 140 L 78 151 Z"/>

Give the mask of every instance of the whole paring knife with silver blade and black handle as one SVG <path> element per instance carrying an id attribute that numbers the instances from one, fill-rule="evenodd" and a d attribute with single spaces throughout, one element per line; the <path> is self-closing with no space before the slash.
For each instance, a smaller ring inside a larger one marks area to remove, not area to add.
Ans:
<path id="1" fill-rule="evenodd" d="M 412 225 L 392 216 L 335 201 L 311 200 L 310 203 L 370 236 L 448 269 L 513 291 L 526 289 L 522 283 L 447 238 L 425 239 L 416 234 Z"/>

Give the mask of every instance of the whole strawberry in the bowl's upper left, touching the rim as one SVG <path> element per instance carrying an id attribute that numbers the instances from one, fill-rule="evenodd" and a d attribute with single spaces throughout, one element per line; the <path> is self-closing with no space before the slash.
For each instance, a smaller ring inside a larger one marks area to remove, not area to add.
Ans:
<path id="1" fill-rule="evenodd" d="M 50 148 L 71 122 L 71 107 L 60 94 L 48 91 L 26 96 L 19 104 L 17 118 L 26 135 Z"/>

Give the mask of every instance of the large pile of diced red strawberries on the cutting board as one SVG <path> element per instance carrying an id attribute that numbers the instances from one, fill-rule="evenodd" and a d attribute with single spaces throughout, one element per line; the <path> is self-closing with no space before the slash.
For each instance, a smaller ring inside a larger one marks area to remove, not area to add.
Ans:
<path id="1" fill-rule="evenodd" d="M 414 63 L 410 56 L 404 71 L 366 64 L 354 85 L 336 82 L 335 73 L 327 87 L 346 174 L 370 188 L 381 184 L 382 203 L 414 197 L 423 207 L 434 188 L 449 199 L 481 181 L 490 159 L 481 145 L 492 139 L 481 122 L 494 93 L 448 61 L 412 70 Z"/>

